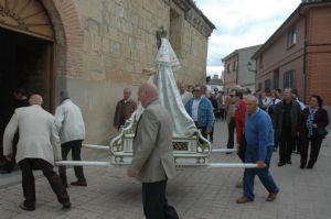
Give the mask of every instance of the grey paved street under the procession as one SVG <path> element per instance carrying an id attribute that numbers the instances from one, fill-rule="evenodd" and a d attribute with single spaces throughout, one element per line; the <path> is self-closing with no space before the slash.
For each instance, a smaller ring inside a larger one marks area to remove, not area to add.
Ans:
<path id="1" fill-rule="evenodd" d="M 216 147 L 225 146 L 227 133 L 224 122 L 215 127 Z M 93 143 L 93 142 L 90 142 Z M 331 215 L 331 138 L 323 142 L 319 161 L 313 169 L 299 168 L 299 155 L 292 164 L 277 167 L 275 153 L 271 173 L 280 187 L 275 202 L 266 202 L 267 191 L 256 178 L 254 202 L 237 205 L 242 189 L 235 187 L 243 169 L 186 168 L 180 169 L 169 182 L 169 202 L 183 219 L 328 219 Z M 235 154 L 213 154 L 212 162 L 239 162 Z M 23 211 L 19 172 L 0 175 L 0 218 L 143 218 L 141 187 L 126 177 L 122 167 L 85 167 L 88 186 L 68 187 L 70 210 L 62 210 L 44 177 L 38 177 L 36 210 Z M 40 175 L 40 174 L 39 174 Z M 68 179 L 74 180 L 73 169 Z"/>

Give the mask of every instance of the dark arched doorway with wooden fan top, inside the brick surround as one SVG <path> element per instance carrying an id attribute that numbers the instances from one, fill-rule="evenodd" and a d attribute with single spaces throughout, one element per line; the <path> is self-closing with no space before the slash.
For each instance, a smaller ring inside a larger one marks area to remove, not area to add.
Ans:
<path id="1" fill-rule="evenodd" d="M 14 111 L 13 91 L 24 88 L 53 110 L 54 31 L 38 0 L 0 0 L 0 138 Z M 1 150 L 2 152 L 2 150 Z"/>

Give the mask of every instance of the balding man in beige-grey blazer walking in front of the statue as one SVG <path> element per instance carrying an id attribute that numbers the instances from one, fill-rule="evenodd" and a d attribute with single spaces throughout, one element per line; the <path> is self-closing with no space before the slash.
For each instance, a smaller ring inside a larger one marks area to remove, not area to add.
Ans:
<path id="1" fill-rule="evenodd" d="M 134 158 L 128 176 L 142 182 L 143 212 L 147 219 L 179 218 L 166 198 L 167 179 L 175 174 L 172 155 L 172 123 L 152 84 L 139 87 L 145 108 L 134 139 Z"/>

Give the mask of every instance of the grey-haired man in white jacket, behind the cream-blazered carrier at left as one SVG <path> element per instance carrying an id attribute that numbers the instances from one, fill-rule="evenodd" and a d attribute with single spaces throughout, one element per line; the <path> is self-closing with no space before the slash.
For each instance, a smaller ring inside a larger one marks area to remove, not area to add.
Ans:
<path id="1" fill-rule="evenodd" d="M 81 149 L 85 139 L 85 124 L 81 109 L 70 99 L 68 92 L 63 90 L 60 92 L 61 105 L 55 110 L 55 124 L 60 133 L 62 158 L 66 161 L 66 156 L 72 151 L 73 161 L 82 161 Z M 72 182 L 73 186 L 87 186 L 83 166 L 74 166 L 76 182 Z M 65 187 L 67 187 L 66 167 L 58 167 L 60 177 Z"/>

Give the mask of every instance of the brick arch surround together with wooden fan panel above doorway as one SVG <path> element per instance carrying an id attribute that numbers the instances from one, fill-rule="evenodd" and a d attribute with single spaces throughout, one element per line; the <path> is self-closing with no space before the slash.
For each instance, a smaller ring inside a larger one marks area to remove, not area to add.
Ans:
<path id="1" fill-rule="evenodd" d="M 66 77 L 83 73 L 84 33 L 72 0 L 0 0 L 0 28 L 53 42 L 50 110 Z"/>

